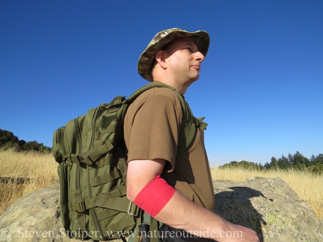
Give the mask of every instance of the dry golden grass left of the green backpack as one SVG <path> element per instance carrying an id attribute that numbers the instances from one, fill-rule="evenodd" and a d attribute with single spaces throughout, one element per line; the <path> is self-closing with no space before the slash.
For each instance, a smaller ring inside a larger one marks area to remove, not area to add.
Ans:
<path id="1" fill-rule="evenodd" d="M 0 149 L 0 167 L 0 177 L 31 178 L 26 184 L 0 184 L 0 214 L 28 193 L 58 183 L 51 153 Z"/>

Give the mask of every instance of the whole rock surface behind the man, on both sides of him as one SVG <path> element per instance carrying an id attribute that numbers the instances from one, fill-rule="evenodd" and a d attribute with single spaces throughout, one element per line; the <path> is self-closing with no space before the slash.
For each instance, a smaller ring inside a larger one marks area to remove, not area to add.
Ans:
<path id="1" fill-rule="evenodd" d="M 214 213 L 256 230 L 260 241 L 323 241 L 322 221 L 283 179 L 213 180 L 213 186 Z M 59 185 L 24 196 L 0 216 L 0 241 L 81 241 L 65 235 L 59 203 Z"/>

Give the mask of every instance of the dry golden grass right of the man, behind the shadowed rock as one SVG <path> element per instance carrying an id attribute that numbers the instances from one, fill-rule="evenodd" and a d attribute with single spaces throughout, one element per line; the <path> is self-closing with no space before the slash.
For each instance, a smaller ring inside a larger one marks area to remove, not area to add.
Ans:
<path id="1" fill-rule="evenodd" d="M 314 175 L 308 171 L 271 170 L 258 171 L 242 168 L 211 168 L 213 179 L 246 181 L 253 176 L 281 177 L 315 212 L 323 219 L 323 175 Z"/>

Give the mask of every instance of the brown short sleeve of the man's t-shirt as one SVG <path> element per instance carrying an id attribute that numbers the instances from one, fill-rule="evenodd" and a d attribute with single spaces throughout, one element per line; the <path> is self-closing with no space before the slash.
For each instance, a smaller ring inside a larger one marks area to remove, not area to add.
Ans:
<path id="1" fill-rule="evenodd" d="M 125 126 L 129 124 L 127 114 Z M 167 96 L 154 95 L 135 104 L 129 115 L 132 122 L 127 145 L 128 161 L 160 158 L 169 161 L 169 170 L 173 170 L 182 120 L 178 103 Z"/>

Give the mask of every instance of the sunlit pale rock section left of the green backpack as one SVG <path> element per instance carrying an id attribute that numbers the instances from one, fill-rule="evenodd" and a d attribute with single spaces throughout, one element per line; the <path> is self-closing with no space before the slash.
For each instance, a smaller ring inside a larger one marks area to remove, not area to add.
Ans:
<path id="1" fill-rule="evenodd" d="M 65 235 L 59 206 L 60 185 L 22 197 L 0 216 L 0 241 L 82 241 Z"/>

